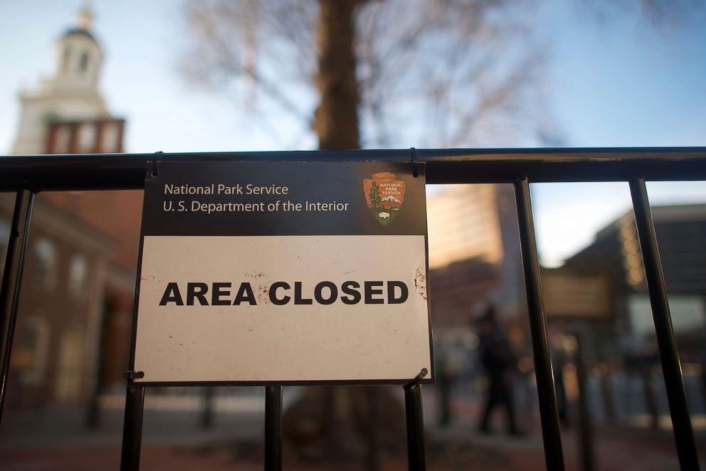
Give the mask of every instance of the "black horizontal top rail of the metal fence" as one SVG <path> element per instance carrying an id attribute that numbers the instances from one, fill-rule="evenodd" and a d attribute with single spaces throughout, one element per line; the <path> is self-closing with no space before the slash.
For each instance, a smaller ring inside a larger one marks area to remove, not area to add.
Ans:
<path id="1" fill-rule="evenodd" d="M 409 149 L 343 152 L 199 152 L 0 157 L 0 191 L 144 188 L 154 161 L 296 160 L 411 162 Z M 706 147 L 611 149 L 417 149 L 429 184 L 706 180 Z"/>

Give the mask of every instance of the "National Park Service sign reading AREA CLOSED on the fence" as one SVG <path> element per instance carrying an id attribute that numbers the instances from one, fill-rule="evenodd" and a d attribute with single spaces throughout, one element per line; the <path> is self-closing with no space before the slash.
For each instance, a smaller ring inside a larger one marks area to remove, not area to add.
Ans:
<path id="1" fill-rule="evenodd" d="M 159 162 L 140 383 L 401 383 L 431 371 L 423 166 Z M 427 379 L 431 379 L 428 377 Z"/>

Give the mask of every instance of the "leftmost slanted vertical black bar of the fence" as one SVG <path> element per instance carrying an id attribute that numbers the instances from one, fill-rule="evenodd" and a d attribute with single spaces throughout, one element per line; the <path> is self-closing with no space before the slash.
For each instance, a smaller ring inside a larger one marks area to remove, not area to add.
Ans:
<path id="1" fill-rule="evenodd" d="M 10 369 L 12 338 L 15 333 L 22 267 L 24 265 L 24 254 L 27 248 L 33 206 L 34 193 L 32 191 L 20 190 L 17 192 L 15 210 L 12 215 L 12 227 L 7 243 L 2 286 L 0 287 L 0 309 L 2 309 L 0 312 L 2 316 L 0 321 L 2 328 L 0 333 L 0 374 L 2 375 L 0 383 L 0 421 L 2 420 L 2 409 L 5 403 L 5 393 L 7 392 L 7 375 Z"/>

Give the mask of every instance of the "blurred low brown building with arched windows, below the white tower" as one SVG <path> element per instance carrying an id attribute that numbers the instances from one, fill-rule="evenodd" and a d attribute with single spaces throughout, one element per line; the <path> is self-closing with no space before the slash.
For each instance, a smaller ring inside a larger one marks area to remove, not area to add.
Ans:
<path id="1" fill-rule="evenodd" d="M 14 199 L 0 194 L 0 231 Z M 0 244 L 4 257 L 6 248 Z M 95 388 L 108 260 L 115 242 L 47 201 L 33 210 L 6 401 L 41 408 Z M 3 258 L 4 259 L 4 258 Z"/>

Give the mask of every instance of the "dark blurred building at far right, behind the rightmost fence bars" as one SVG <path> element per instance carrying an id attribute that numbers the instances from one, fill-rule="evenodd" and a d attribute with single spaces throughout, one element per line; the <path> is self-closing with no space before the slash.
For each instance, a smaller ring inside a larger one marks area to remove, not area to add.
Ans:
<path id="1" fill-rule="evenodd" d="M 655 233 L 680 353 L 706 344 L 706 204 L 655 206 Z M 652 342 L 654 324 L 632 211 L 557 270 L 542 275 L 547 314 L 589 324 L 604 354 L 631 355 Z M 568 302 L 571 300 L 571 302 Z M 591 301 L 592 300 L 592 301 Z"/>

